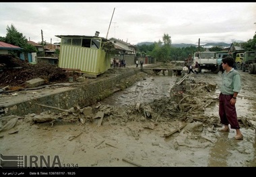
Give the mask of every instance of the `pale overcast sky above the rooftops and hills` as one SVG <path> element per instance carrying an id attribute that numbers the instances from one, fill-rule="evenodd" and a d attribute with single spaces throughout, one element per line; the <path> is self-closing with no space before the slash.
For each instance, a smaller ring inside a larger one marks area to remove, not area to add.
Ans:
<path id="1" fill-rule="evenodd" d="M 96 31 L 130 44 L 164 34 L 172 43 L 247 42 L 256 32 L 256 3 L 0 3 L 0 36 L 11 24 L 34 42 L 42 41 L 41 30 L 49 43 Z"/>

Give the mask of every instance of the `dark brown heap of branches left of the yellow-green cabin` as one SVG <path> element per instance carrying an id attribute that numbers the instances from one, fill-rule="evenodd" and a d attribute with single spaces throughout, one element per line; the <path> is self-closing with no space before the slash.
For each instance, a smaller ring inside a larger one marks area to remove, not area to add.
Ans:
<path id="1" fill-rule="evenodd" d="M 11 55 L 0 55 L 0 87 L 20 86 L 25 81 L 40 77 L 46 83 L 60 83 L 68 81 L 69 73 L 49 63 L 31 64 Z"/>

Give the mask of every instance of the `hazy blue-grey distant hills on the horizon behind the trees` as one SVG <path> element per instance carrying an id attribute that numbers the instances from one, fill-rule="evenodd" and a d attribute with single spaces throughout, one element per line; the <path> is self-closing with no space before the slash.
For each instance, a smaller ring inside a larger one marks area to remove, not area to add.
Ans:
<path id="1" fill-rule="evenodd" d="M 154 44 L 154 42 L 139 42 L 137 44 L 137 46 L 141 46 L 143 44 L 151 45 L 151 44 Z M 197 46 L 197 45 L 181 43 L 181 44 L 172 44 L 172 46 L 176 47 L 176 48 L 183 48 L 183 47 Z M 229 43 L 225 43 L 225 42 L 211 42 L 211 43 L 201 44 L 200 46 L 202 46 L 204 48 L 211 48 L 212 46 L 222 46 L 222 47 L 226 48 L 226 47 L 230 47 L 231 43 L 229 44 Z"/>

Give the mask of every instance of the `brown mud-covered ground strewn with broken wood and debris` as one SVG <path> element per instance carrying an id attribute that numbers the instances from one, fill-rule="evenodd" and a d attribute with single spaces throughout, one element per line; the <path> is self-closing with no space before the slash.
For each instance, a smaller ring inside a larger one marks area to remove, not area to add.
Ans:
<path id="1" fill-rule="evenodd" d="M 256 75 L 241 71 L 236 101 L 241 141 L 233 129 L 218 132 L 221 72 L 192 73 L 180 85 L 179 75 L 139 77 L 78 112 L 2 117 L 0 153 L 59 155 L 62 166 L 79 167 L 256 166 Z"/>

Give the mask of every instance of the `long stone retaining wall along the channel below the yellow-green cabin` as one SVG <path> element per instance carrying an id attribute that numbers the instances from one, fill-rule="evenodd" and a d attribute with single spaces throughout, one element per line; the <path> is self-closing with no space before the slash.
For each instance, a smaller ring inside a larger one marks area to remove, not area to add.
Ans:
<path id="1" fill-rule="evenodd" d="M 46 110 L 59 112 L 57 109 L 40 106 L 38 104 L 61 108 L 63 110 L 68 110 L 77 105 L 80 106 L 80 108 L 84 108 L 92 105 L 94 96 L 98 96 L 100 92 L 103 92 L 104 90 L 115 88 L 122 79 L 131 77 L 138 71 L 139 70 L 136 71 L 131 69 L 129 72 L 113 75 L 113 77 L 97 79 L 91 83 L 82 84 L 79 87 L 59 90 L 59 92 L 57 89 L 55 92 L 31 100 L 22 100 L 5 106 L 1 105 L 1 109 L 5 110 L 5 112 L 1 112 L 0 116 L 8 116 L 11 114 L 22 116 L 30 113 L 40 114 L 40 112 Z"/>

